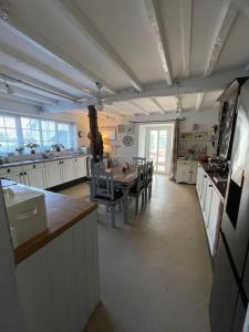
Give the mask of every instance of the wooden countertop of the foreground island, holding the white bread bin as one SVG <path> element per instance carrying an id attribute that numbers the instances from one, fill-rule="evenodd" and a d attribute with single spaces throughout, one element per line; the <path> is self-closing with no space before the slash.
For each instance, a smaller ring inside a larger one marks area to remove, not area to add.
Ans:
<path id="1" fill-rule="evenodd" d="M 97 208 L 95 203 L 84 199 L 50 191 L 43 193 L 45 194 L 48 229 L 14 249 L 17 264 Z"/>

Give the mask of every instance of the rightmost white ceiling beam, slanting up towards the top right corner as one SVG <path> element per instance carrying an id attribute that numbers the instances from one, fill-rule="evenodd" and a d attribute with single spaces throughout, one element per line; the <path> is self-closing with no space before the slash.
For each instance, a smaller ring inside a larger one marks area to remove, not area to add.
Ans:
<path id="1" fill-rule="evenodd" d="M 227 6 L 224 8 L 220 22 L 218 24 L 217 31 L 214 37 L 214 41 L 207 59 L 204 76 L 209 76 L 212 73 L 219 60 L 221 50 L 227 40 L 229 31 L 238 15 L 240 3 L 241 0 L 227 1 Z"/>

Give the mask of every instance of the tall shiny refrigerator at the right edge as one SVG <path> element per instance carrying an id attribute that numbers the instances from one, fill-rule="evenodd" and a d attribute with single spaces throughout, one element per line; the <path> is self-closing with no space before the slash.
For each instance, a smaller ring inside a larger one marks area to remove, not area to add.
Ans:
<path id="1" fill-rule="evenodd" d="M 248 307 L 249 81 L 240 90 L 235 121 L 230 170 L 209 302 L 212 332 L 243 331 Z"/>

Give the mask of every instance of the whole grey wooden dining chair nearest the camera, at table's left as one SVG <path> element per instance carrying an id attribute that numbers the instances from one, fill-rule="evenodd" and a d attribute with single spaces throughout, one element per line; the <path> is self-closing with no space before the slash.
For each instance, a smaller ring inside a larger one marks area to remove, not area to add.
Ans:
<path id="1" fill-rule="evenodd" d="M 90 198 L 106 206 L 106 211 L 111 211 L 112 215 L 112 226 L 115 227 L 115 207 L 123 203 L 123 193 L 114 189 L 113 174 L 105 172 L 103 163 L 94 164 L 92 169 Z"/>

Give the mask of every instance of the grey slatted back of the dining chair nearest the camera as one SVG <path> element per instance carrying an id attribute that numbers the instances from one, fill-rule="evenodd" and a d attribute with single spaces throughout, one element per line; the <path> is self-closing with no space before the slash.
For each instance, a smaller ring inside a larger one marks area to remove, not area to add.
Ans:
<path id="1" fill-rule="evenodd" d="M 93 198 L 114 199 L 113 174 L 105 172 L 103 163 L 93 166 Z"/>

